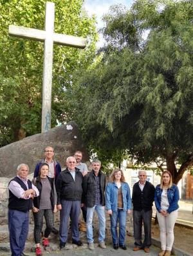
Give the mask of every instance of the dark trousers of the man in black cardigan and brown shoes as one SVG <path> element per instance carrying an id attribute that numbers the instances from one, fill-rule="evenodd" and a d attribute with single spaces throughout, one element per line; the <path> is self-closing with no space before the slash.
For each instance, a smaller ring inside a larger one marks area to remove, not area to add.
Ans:
<path id="1" fill-rule="evenodd" d="M 133 210 L 133 229 L 134 229 L 134 245 L 140 248 L 149 248 L 151 246 L 151 211 Z M 142 243 L 142 221 L 144 225 L 145 239 Z"/>

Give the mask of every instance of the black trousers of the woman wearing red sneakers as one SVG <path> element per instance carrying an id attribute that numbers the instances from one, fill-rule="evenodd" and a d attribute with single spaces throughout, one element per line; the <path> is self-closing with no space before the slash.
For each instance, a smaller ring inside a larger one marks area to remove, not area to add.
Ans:
<path id="1" fill-rule="evenodd" d="M 46 229 L 44 231 L 44 237 L 48 238 L 53 228 L 53 209 L 41 209 L 37 213 L 33 213 L 34 229 L 33 236 L 35 244 L 39 244 L 41 241 L 41 231 L 43 226 L 43 217 L 46 220 Z"/>

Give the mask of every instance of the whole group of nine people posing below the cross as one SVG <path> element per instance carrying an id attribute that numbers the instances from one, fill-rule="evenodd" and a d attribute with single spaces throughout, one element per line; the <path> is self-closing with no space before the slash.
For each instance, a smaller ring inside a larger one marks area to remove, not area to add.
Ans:
<path id="1" fill-rule="evenodd" d="M 29 210 L 33 211 L 35 253 L 42 255 L 41 234 L 43 217 L 46 229 L 42 246 L 49 246 L 48 237 L 54 228 L 54 213 L 60 211 L 59 247 L 65 248 L 68 240 L 69 219 L 73 244 L 82 246 L 79 237 L 78 220 L 80 209 L 86 222 L 88 247 L 95 250 L 93 240 L 93 213 L 98 215 L 98 243 L 105 249 L 106 212 L 111 220 L 113 248 L 127 250 L 125 245 L 125 224 L 127 214 L 133 209 L 134 251 L 149 253 L 151 246 L 152 203 L 155 201 L 160 226 L 161 251 L 159 256 L 169 256 L 174 242 L 174 224 L 178 215 L 178 187 L 172 184 L 169 171 L 163 171 L 160 185 L 147 181 L 145 171 L 139 171 L 139 181 L 130 188 L 121 169 L 114 169 L 106 186 L 106 175 L 102 173 L 100 160 L 93 160 L 92 170 L 82 163 L 82 152 L 66 159 L 66 169 L 61 171 L 59 162 L 53 159 L 53 147 L 44 149 L 44 159 L 34 171 L 32 182 L 28 180 L 29 167 L 20 164 L 17 176 L 9 185 L 8 227 L 12 256 L 25 256 L 24 244 L 28 235 Z M 132 207 L 133 202 L 133 207 Z M 142 223 L 145 237 L 142 242 Z M 118 229 L 119 226 L 119 229 Z M 119 230 L 119 231 L 118 231 Z"/>

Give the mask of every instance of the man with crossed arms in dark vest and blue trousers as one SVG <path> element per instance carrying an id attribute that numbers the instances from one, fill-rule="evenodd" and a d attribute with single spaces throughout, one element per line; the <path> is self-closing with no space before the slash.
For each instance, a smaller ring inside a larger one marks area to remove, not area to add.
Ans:
<path id="1" fill-rule="evenodd" d="M 17 176 L 8 185 L 8 228 L 12 256 L 24 256 L 23 250 L 28 236 L 29 210 L 32 208 L 33 197 L 39 196 L 37 187 L 33 186 L 27 178 L 28 173 L 28 165 L 18 165 Z"/>

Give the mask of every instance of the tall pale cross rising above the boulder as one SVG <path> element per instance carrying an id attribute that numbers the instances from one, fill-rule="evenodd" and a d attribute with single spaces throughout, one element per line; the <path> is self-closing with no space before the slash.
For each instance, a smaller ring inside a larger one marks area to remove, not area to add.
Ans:
<path id="1" fill-rule="evenodd" d="M 44 42 L 44 67 L 42 77 L 42 133 L 51 128 L 51 81 L 53 63 L 53 43 L 69 47 L 84 48 L 86 39 L 83 37 L 56 34 L 54 32 L 54 3 L 46 2 L 46 17 L 44 30 L 34 28 L 9 26 L 10 36 L 26 37 Z"/>

